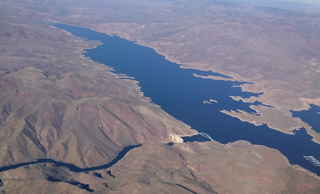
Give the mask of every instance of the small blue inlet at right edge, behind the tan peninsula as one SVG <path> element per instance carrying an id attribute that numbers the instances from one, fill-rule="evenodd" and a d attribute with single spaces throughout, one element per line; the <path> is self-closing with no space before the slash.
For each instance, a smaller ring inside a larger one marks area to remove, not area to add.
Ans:
<path id="1" fill-rule="evenodd" d="M 293 117 L 299 117 L 308 123 L 317 133 L 320 133 L 320 106 L 310 105 L 311 108 L 303 111 L 291 111 Z"/>

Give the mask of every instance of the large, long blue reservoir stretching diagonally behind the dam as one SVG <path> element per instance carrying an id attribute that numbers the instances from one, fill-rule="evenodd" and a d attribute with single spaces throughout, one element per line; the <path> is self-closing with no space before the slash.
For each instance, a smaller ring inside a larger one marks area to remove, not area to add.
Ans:
<path id="1" fill-rule="evenodd" d="M 244 103 L 233 100 L 229 96 L 259 96 L 260 94 L 242 92 L 240 87 L 233 87 L 244 82 L 203 79 L 199 75 L 223 76 L 218 73 L 204 72 L 195 69 L 183 69 L 172 63 L 155 50 L 122 39 L 116 35 L 109 36 L 92 31 L 88 28 L 75 27 L 64 24 L 50 25 L 64 29 L 75 36 L 85 37 L 87 40 L 99 40 L 103 44 L 94 49 L 86 50 L 86 57 L 93 61 L 113 67 L 118 74 L 127 74 L 139 81 L 144 96 L 150 97 L 152 102 L 199 132 L 206 133 L 212 139 L 227 144 L 237 140 L 247 140 L 252 144 L 265 145 L 283 153 L 291 164 L 298 164 L 317 175 L 320 168 L 313 166 L 298 156 L 312 154 L 319 160 L 320 144 L 311 141 L 311 136 L 305 129 L 288 135 L 267 125 L 255 126 L 243 122 L 238 118 L 221 113 L 220 110 L 244 110 L 254 112 L 249 105 L 261 105 L 260 102 Z M 209 99 L 218 103 L 204 104 Z M 185 141 L 207 141 L 203 136 L 185 137 Z M 320 160 L 319 160 L 320 161 Z"/>

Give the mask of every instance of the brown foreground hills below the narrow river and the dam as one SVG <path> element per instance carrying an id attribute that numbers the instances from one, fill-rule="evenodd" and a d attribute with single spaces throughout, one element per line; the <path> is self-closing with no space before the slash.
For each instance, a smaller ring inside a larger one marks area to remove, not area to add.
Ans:
<path id="1" fill-rule="evenodd" d="M 0 177 L 6 193 L 320 192 L 319 177 L 290 166 L 279 151 L 244 141 L 227 146 L 144 144 L 108 169 L 70 174 L 62 167 L 37 164 L 1 172 Z"/>

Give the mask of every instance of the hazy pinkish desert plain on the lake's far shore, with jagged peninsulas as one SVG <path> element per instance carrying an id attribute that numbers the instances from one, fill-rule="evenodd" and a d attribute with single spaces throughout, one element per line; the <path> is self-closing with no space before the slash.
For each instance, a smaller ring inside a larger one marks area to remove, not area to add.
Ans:
<path id="1" fill-rule="evenodd" d="M 318 12 L 302 9 L 304 6 L 301 9 L 305 12 L 298 12 L 224 1 L 192 2 L 48 1 L 39 2 L 37 6 L 46 10 L 30 18 L 118 34 L 154 48 L 183 68 L 214 71 L 234 77 L 229 80 L 250 82 L 241 85 L 243 91 L 263 92 L 255 100 L 276 107 L 265 115 L 282 112 L 279 120 L 267 118 L 269 126 L 282 125 L 280 131 L 290 134 L 288 131 L 301 128 L 301 120 L 293 119 L 290 110 L 320 105 Z M 246 117 L 253 120 L 255 115 Z M 281 120 L 293 124 L 283 125 Z M 319 134 L 310 126 L 305 128 L 319 142 Z"/>

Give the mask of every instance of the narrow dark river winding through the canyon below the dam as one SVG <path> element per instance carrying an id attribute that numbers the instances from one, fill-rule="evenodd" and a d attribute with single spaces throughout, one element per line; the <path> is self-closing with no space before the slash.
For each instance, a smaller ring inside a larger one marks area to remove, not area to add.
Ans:
<path id="1" fill-rule="evenodd" d="M 99 166 L 99 167 L 80 168 L 80 167 L 77 167 L 76 165 L 73 165 L 73 164 L 68 164 L 68 163 L 64 163 L 64 162 L 58 162 L 58 161 L 55 161 L 53 159 L 44 158 L 44 159 L 38 159 L 37 161 L 24 162 L 24 163 L 20 163 L 20 164 L 0 167 L 0 172 L 6 171 L 6 170 L 15 169 L 15 168 L 19 168 L 19 167 L 23 167 L 23 166 L 28 166 L 28 165 L 31 165 L 31 164 L 39 164 L 39 163 L 46 163 L 46 162 L 53 163 L 53 164 L 55 164 L 56 166 L 59 166 L 59 167 L 67 167 L 67 168 L 69 168 L 71 171 L 73 171 L 75 173 L 88 172 L 88 171 L 93 171 L 93 170 L 101 170 L 101 169 L 105 169 L 105 168 L 113 166 L 119 160 L 121 160 L 125 156 L 125 154 L 128 153 L 128 151 L 132 150 L 133 148 L 140 147 L 141 145 L 142 144 L 140 144 L 140 145 L 130 145 L 130 146 L 125 147 L 122 151 L 120 151 L 118 153 L 118 155 L 116 156 L 115 159 L 113 159 L 108 164 L 105 164 L 105 165 L 102 165 L 102 166 Z"/>

